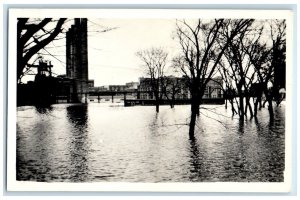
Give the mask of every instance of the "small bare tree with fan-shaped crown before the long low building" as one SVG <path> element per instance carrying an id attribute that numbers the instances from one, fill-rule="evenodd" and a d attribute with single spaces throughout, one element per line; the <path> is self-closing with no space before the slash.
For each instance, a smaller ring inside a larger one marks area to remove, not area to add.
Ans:
<path id="1" fill-rule="evenodd" d="M 142 60 L 143 66 L 147 70 L 147 75 L 150 77 L 150 85 L 155 97 L 156 112 L 159 112 L 159 104 L 163 96 L 162 82 L 168 53 L 162 48 L 150 48 L 138 51 L 137 56 Z"/>

